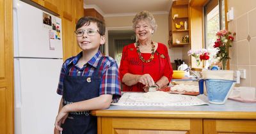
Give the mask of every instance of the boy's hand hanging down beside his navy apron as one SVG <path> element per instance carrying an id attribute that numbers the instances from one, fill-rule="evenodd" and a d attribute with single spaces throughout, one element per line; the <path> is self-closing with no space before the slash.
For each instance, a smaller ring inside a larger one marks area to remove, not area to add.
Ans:
<path id="1" fill-rule="evenodd" d="M 61 124 L 65 123 L 65 120 L 68 117 L 68 112 L 65 112 L 65 107 L 61 108 L 59 114 L 56 117 L 54 125 L 55 125 L 55 128 L 57 129 L 57 131 L 62 131 L 63 130 L 63 128 L 61 128 Z M 54 132 L 55 132 L 55 130 L 54 130 Z"/>

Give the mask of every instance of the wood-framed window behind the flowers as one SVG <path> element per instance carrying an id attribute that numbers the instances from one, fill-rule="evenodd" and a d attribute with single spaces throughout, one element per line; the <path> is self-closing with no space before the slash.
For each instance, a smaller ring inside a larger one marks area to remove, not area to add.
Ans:
<path id="1" fill-rule="evenodd" d="M 216 41 L 216 33 L 225 29 L 225 0 L 211 0 L 204 6 L 205 48 Z"/>

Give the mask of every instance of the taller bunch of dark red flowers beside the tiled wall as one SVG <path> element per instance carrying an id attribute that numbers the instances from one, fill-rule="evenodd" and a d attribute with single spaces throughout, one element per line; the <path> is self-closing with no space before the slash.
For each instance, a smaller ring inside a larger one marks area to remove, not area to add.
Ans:
<path id="1" fill-rule="evenodd" d="M 234 36 L 236 33 L 231 33 L 227 30 L 220 30 L 216 33 L 217 40 L 214 42 L 213 47 L 219 48 L 216 57 L 222 63 L 222 69 L 227 69 L 227 61 L 230 59 L 228 50 L 232 47 L 231 43 L 234 41 Z"/>

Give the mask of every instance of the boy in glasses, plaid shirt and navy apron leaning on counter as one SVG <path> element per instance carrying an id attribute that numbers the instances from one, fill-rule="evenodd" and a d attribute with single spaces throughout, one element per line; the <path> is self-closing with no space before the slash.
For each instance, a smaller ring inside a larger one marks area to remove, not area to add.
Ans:
<path id="1" fill-rule="evenodd" d="M 118 66 L 102 56 L 105 25 L 93 17 L 82 17 L 76 25 L 77 45 L 83 50 L 63 63 L 57 93 L 62 95 L 54 133 L 96 134 L 97 117 L 89 110 L 108 108 L 120 97 Z"/>

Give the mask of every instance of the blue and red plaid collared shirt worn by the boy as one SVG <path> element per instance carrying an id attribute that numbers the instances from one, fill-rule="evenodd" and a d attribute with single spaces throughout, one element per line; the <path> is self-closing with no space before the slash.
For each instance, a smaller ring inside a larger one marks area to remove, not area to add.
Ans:
<path id="1" fill-rule="evenodd" d="M 58 94 L 63 94 L 63 80 L 66 71 L 69 71 L 68 75 L 70 76 L 92 76 L 102 54 L 98 51 L 88 63 L 84 64 L 83 68 L 79 68 L 76 64 L 82 56 L 83 53 L 80 52 L 77 56 L 70 57 L 63 63 L 57 89 Z M 67 70 L 67 66 L 72 67 L 70 70 Z M 112 57 L 104 56 L 102 63 L 100 64 L 99 76 L 101 77 L 99 95 L 113 94 L 113 98 L 119 98 L 121 96 L 119 71 L 116 61 Z"/>

